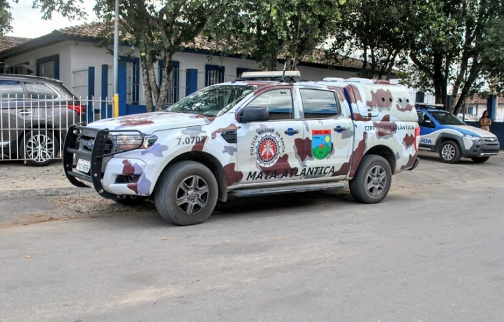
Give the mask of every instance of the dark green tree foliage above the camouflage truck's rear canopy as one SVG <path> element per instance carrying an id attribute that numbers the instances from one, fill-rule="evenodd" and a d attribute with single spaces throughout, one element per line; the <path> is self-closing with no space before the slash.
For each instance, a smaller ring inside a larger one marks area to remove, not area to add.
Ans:
<path id="1" fill-rule="evenodd" d="M 341 3 L 337 10 L 343 19 L 334 29 L 329 58 L 338 62 L 355 56 L 362 59 L 360 77 L 388 79 L 420 28 L 421 9 L 414 0 Z"/>

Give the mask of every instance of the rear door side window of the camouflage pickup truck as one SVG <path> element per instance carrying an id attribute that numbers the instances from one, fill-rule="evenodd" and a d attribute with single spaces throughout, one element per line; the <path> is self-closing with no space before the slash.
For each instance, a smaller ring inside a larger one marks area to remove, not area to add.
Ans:
<path id="1" fill-rule="evenodd" d="M 328 118 L 338 115 L 339 107 L 332 91 L 300 89 L 304 118 Z"/>

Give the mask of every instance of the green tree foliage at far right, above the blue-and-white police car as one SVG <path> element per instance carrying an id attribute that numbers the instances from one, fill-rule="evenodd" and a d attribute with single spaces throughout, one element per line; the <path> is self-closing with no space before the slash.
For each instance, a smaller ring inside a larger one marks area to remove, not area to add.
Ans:
<path id="1" fill-rule="evenodd" d="M 425 6 L 424 29 L 410 49 L 411 79 L 434 89 L 438 103 L 450 95 L 447 109 L 454 114 L 484 87 L 502 89 L 503 1 L 426 1 Z"/>

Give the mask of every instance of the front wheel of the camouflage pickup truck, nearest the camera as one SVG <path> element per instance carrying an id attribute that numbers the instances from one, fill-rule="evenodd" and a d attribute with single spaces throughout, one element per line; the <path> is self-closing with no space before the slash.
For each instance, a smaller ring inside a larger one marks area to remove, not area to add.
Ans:
<path id="1" fill-rule="evenodd" d="M 187 226 L 207 220 L 217 203 L 218 186 L 212 171 L 203 164 L 183 161 L 163 171 L 154 202 L 168 222 Z"/>

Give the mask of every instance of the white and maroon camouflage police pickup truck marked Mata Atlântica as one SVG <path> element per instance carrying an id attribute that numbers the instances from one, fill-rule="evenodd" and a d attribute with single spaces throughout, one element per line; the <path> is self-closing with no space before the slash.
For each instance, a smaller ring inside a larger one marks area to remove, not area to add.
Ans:
<path id="1" fill-rule="evenodd" d="M 420 128 L 406 87 L 370 79 L 297 82 L 299 72 L 247 72 L 163 112 L 72 126 L 73 185 L 135 205 L 152 199 L 174 224 L 199 224 L 228 196 L 334 189 L 364 204 L 417 166 Z"/>

